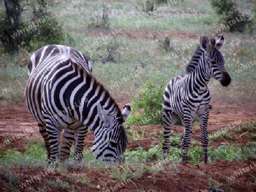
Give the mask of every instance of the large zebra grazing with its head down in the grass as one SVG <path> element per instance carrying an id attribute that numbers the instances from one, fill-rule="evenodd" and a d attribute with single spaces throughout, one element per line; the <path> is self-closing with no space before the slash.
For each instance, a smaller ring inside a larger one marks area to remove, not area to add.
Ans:
<path id="1" fill-rule="evenodd" d="M 103 161 L 119 161 L 127 145 L 123 122 L 130 114 L 128 103 L 119 110 L 117 103 L 92 76 L 84 54 L 63 45 L 38 49 L 28 62 L 24 91 L 26 106 L 38 121 L 48 158 L 59 158 L 60 132 L 64 129 L 61 158 L 69 156 L 75 139 L 75 158 L 82 159 L 88 128 L 95 140 L 93 155 Z"/>

